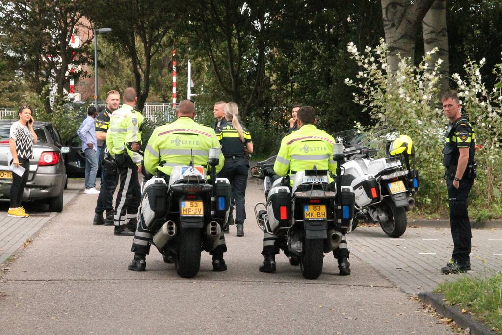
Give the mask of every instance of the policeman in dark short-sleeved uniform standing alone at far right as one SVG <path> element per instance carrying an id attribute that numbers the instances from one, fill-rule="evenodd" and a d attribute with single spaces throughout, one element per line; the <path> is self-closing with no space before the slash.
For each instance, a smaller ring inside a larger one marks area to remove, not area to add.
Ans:
<path id="1" fill-rule="evenodd" d="M 445 133 L 443 165 L 450 203 L 450 225 L 453 237 L 451 261 L 441 268 L 444 274 L 470 270 L 471 226 L 467 214 L 469 192 L 476 177 L 474 161 L 474 132 L 469 122 L 460 114 L 460 100 L 456 93 L 441 99 L 443 111 L 449 119 Z"/>

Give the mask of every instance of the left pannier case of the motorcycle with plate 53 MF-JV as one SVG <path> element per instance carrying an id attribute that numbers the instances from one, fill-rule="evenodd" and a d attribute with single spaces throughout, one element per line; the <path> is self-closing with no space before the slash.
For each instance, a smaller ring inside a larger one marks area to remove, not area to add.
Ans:
<path id="1" fill-rule="evenodd" d="M 146 227 L 155 220 L 163 219 L 169 211 L 167 185 L 164 178 L 152 178 L 143 188 L 140 214 Z"/>

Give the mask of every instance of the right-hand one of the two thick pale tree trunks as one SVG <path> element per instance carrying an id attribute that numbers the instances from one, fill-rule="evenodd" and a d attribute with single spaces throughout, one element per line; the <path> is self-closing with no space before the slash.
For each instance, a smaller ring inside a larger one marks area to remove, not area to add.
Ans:
<path id="1" fill-rule="evenodd" d="M 439 72 L 443 76 L 440 81 L 440 95 L 443 95 L 449 90 L 449 62 L 448 62 L 448 32 L 446 30 L 446 0 L 436 0 L 422 22 L 422 30 L 424 32 L 424 47 L 425 52 L 431 51 L 438 47 L 438 51 L 432 55 L 432 60 L 429 64 L 433 68 L 438 59 L 443 63 L 439 68 Z"/>

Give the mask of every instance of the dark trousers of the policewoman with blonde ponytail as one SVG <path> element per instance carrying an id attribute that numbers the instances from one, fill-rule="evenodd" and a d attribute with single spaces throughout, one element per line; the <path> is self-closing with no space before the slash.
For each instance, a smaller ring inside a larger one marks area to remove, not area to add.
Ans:
<path id="1" fill-rule="evenodd" d="M 246 219 L 245 196 L 247 187 L 247 174 L 249 163 L 245 157 L 225 157 L 223 168 L 218 173 L 218 178 L 227 178 L 232 187 L 232 202 L 235 202 L 235 223 L 244 223 Z M 230 206 L 229 216 L 232 215 Z"/>

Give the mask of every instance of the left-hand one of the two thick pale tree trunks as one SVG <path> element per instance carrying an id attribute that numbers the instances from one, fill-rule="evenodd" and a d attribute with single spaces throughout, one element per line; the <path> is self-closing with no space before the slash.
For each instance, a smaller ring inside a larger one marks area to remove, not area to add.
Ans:
<path id="1" fill-rule="evenodd" d="M 414 57 L 418 28 L 435 0 L 382 0 L 388 71 L 395 72 L 401 58 Z"/>

